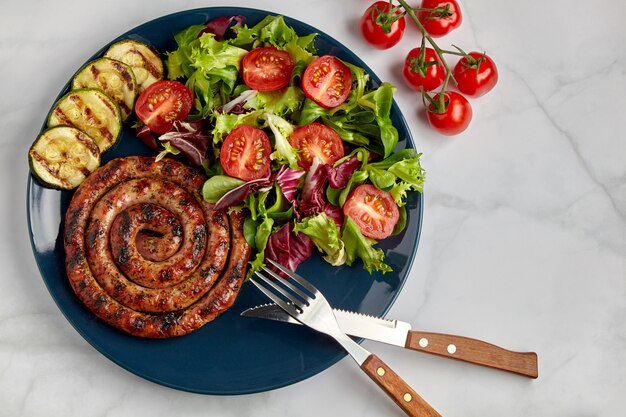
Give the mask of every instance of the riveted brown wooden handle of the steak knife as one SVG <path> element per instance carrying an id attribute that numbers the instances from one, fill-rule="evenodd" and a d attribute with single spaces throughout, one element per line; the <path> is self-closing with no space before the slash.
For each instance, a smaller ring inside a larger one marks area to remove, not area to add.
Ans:
<path id="1" fill-rule="evenodd" d="M 491 343 L 450 334 L 410 331 L 406 348 L 537 378 L 537 354 L 513 352 Z"/>

